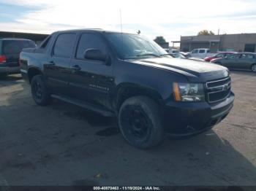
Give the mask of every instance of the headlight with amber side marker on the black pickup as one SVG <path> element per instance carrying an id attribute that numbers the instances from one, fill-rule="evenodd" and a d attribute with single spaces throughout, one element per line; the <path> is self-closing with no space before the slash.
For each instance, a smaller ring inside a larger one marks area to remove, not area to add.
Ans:
<path id="1" fill-rule="evenodd" d="M 203 84 L 173 83 L 176 101 L 205 101 Z"/>

